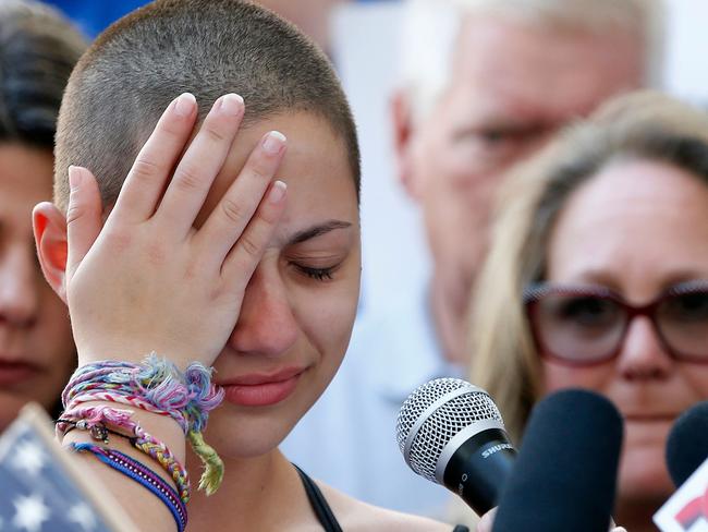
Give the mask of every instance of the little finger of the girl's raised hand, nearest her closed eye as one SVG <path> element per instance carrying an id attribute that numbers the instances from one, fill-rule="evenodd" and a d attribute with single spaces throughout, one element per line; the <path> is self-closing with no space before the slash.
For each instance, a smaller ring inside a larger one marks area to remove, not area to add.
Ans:
<path id="1" fill-rule="evenodd" d="M 286 190 L 282 181 L 274 181 L 270 185 L 251 223 L 227 256 L 221 268 L 222 277 L 242 278 L 245 283 L 248 282 L 285 209 Z"/>

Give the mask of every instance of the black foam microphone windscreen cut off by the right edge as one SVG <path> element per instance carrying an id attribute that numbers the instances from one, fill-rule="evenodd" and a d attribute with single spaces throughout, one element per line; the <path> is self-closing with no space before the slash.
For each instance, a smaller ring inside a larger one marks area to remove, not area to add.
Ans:
<path id="1" fill-rule="evenodd" d="M 708 458 L 708 401 L 681 414 L 667 442 L 667 466 L 676 487 Z"/>

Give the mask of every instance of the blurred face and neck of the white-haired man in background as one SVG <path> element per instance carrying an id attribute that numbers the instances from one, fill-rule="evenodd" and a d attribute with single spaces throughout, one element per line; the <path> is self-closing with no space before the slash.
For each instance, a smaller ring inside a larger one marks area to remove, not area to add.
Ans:
<path id="1" fill-rule="evenodd" d="M 573 118 L 642 86 L 654 37 L 646 0 L 443 2 L 413 2 L 393 118 L 400 178 L 432 255 L 426 304 L 440 355 L 464 363 L 463 316 L 503 174 Z M 440 38 L 445 25 L 454 38 Z"/>

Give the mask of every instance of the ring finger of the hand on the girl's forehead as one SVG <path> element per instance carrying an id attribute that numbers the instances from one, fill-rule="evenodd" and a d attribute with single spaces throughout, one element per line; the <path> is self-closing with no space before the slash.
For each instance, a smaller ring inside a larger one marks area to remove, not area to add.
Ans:
<path id="1" fill-rule="evenodd" d="M 285 136 L 278 131 L 266 133 L 202 227 L 199 238 L 209 242 L 210 254 L 219 267 L 236 240 L 243 239 L 242 233 L 261 205 L 264 194 L 284 153 Z M 284 183 L 279 186 L 284 186 Z M 269 194 L 279 192 L 271 188 Z M 264 206 L 265 209 L 268 208 L 267 205 L 268 202 Z M 260 215 L 268 213 L 261 209 Z"/>

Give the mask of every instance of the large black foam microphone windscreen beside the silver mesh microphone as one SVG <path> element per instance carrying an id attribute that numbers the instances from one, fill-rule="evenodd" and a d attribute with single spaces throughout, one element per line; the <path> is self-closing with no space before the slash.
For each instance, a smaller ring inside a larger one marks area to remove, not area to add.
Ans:
<path id="1" fill-rule="evenodd" d="M 622 418 L 602 396 L 563 390 L 533 410 L 501 493 L 495 532 L 607 531 Z"/>

